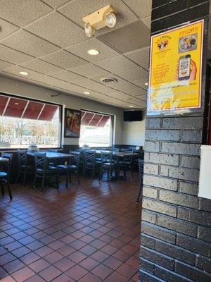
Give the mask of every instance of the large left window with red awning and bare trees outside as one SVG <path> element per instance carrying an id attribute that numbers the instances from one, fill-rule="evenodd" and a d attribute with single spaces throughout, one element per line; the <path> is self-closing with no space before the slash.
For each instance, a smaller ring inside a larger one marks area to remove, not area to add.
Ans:
<path id="1" fill-rule="evenodd" d="M 61 106 L 0 94 L 0 148 L 60 147 Z"/>

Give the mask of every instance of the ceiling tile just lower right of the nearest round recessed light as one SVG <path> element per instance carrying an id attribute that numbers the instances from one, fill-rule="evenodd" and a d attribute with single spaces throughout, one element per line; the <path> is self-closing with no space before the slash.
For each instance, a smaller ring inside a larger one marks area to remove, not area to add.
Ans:
<path id="1" fill-rule="evenodd" d="M 110 59 L 98 61 L 95 64 L 106 69 L 107 71 L 110 71 L 111 73 L 120 73 L 122 70 L 129 71 L 137 68 L 136 63 L 133 63 L 124 56 L 115 56 Z"/>

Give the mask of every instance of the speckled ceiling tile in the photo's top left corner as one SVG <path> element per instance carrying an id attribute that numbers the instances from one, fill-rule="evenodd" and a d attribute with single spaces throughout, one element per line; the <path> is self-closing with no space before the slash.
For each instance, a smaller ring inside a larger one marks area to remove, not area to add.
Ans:
<path id="1" fill-rule="evenodd" d="M 23 27 L 52 9 L 39 0 L 0 0 L 0 17 Z"/>

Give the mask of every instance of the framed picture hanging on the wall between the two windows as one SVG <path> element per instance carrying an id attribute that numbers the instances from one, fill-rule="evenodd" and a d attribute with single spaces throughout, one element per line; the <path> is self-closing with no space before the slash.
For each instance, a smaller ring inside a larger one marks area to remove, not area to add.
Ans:
<path id="1" fill-rule="evenodd" d="M 65 108 L 64 137 L 79 138 L 81 127 L 81 111 Z"/>

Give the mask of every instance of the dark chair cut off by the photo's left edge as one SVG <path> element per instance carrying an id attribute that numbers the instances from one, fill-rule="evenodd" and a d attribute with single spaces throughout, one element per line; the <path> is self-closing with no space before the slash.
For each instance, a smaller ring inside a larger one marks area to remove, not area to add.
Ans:
<path id="1" fill-rule="evenodd" d="M 10 182 L 11 182 L 11 164 L 13 161 L 13 154 L 10 153 L 3 153 L 1 154 L 1 157 L 4 159 L 8 159 L 8 161 L 5 161 L 3 164 L 3 170 L 0 171 L 0 185 L 1 185 L 1 195 L 4 196 L 4 185 L 7 185 L 8 188 L 8 195 L 10 197 L 10 200 L 13 200 Z"/>

